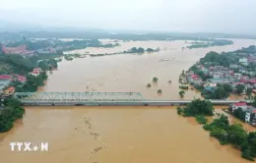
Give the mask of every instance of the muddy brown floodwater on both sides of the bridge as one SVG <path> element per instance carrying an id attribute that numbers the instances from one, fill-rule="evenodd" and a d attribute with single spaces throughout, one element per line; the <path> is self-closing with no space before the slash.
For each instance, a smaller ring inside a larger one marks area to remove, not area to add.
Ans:
<path id="1" fill-rule="evenodd" d="M 40 91 L 139 91 L 145 98 L 176 99 L 180 72 L 206 52 L 231 51 L 250 44 L 256 41 L 234 39 L 233 45 L 182 51 L 184 41 L 121 42 L 116 48 L 165 50 L 64 61 Z M 160 81 L 147 88 L 155 76 Z M 188 91 L 185 98 L 195 95 Z M 223 112 L 220 108 L 217 112 Z M 243 125 L 248 131 L 255 131 Z M 11 141 L 46 141 L 49 151 L 11 152 Z M 194 119 L 178 116 L 174 107 L 26 107 L 23 120 L 0 135 L 0 158 L 6 163 L 247 162 L 240 158 L 238 150 L 210 137 Z"/>

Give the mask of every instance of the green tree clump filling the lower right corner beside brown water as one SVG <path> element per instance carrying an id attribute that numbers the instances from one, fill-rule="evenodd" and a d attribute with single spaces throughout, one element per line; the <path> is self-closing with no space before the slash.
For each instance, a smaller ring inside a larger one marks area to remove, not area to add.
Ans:
<path id="1" fill-rule="evenodd" d="M 228 119 L 224 115 L 205 125 L 204 129 L 210 131 L 210 136 L 216 137 L 222 144 L 229 143 L 241 150 L 241 157 L 254 161 L 256 133 L 247 133 L 240 124 L 229 125 Z"/>

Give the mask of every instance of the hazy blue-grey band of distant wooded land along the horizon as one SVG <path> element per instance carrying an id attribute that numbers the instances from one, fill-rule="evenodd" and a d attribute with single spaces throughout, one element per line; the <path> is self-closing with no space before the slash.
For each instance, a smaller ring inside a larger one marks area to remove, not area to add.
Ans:
<path id="1" fill-rule="evenodd" d="M 83 31 L 21 31 L 21 32 L 0 32 L 1 39 L 21 39 L 21 35 L 28 38 L 87 38 L 87 39 L 120 39 L 120 40 L 203 40 L 208 38 L 249 38 L 255 39 L 255 35 L 248 34 L 226 34 L 226 33 L 192 33 L 192 32 L 148 32 L 148 33 L 127 33 L 119 32 L 112 34 L 101 29 L 87 29 Z"/>

